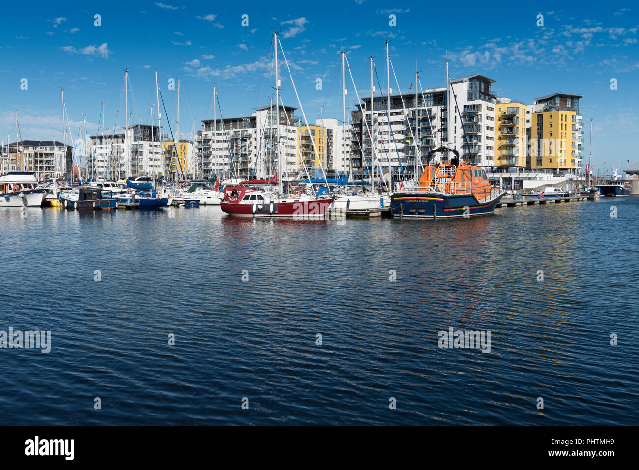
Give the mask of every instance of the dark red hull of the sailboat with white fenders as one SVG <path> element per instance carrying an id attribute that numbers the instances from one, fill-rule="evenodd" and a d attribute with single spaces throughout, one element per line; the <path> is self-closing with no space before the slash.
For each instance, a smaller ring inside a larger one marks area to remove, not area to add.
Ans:
<path id="1" fill-rule="evenodd" d="M 220 208 L 229 215 L 249 217 L 323 218 L 333 199 L 242 204 L 222 201 Z"/>

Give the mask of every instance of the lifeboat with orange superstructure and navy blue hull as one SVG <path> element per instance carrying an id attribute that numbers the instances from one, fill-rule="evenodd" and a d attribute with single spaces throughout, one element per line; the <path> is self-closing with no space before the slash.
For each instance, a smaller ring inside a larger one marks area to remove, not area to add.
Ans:
<path id="1" fill-rule="evenodd" d="M 394 193 L 390 203 L 393 215 L 437 218 L 493 213 L 504 190 L 493 188 L 483 169 L 459 160 L 456 150 L 441 147 L 429 157 L 436 151 L 452 151 L 457 158 L 451 163 L 426 165 L 417 190 Z"/>

